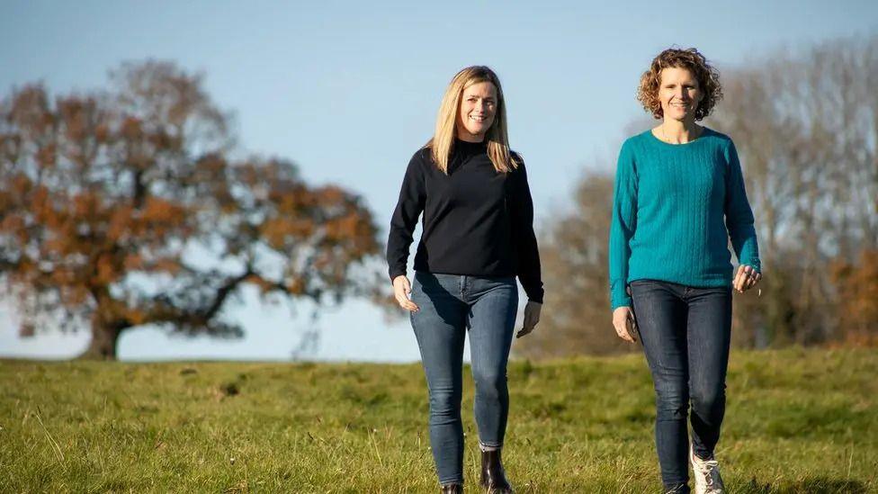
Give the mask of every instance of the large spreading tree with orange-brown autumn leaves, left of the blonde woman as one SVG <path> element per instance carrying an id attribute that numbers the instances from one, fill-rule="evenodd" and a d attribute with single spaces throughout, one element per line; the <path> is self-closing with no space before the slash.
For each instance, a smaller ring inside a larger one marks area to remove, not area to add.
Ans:
<path id="1" fill-rule="evenodd" d="M 363 288 L 349 273 L 379 245 L 362 200 L 229 159 L 200 77 L 127 64 L 101 93 L 27 85 L 0 103 L 0 281 L 22 335 L 88 328 L 87 355 L 114 358 L 142 324 L 239 335 L 222 308 L 245 284 L 317 302 Z"/>

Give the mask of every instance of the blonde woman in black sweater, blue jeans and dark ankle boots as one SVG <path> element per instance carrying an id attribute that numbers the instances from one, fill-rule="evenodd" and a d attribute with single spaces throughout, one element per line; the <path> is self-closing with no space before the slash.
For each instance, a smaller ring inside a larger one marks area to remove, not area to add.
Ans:
<path id="1" fill-rule="evenodd" d="M 408 248 L 422 212 L 409 284 Z M 489 492 L 511 492 L 500 450 L 509 411 L 515 276 L 528 297 L 517 337 L 539 321 L 543 292 L 524 162 L 509 150 L 503 90 L 490 68 L 464 68 L 448 85 L 433 139 L 408 163 L 390 221 L 387 261 L 424 364 L 441 491 L 463 490 L 461 367 L 469 330 L 481 484 Z"/>

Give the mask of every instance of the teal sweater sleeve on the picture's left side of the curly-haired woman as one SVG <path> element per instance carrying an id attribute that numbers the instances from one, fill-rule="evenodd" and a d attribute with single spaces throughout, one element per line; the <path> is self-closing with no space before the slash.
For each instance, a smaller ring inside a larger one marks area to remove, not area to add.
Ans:
<path id="1" fill-rule="evenodd" d="M 610 220 L 610 305 L 632 306 L 628 288 L 628 260 L 631 239 L 637 227 L 637 171 L 629 142 L 623 144 L 616 164 L 613 193 L 613 217 Z"/>

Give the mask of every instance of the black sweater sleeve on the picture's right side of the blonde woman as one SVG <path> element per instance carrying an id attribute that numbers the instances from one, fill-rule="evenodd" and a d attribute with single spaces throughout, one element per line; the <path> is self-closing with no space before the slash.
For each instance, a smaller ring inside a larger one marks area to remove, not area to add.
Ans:
<path id="1" fill-rule="evenodd" d="M 512 225 L 513 241 L 518 255 L 518 280 L 521 282 L 529 301 L 542 303 L 544 293 L 540 250 L 537 247 L 536 235 L 533 233 L 533 199 L 531 198 L 531 189 L 527 184 L 527 170 L 524 168 L 524 160 L 517 155 L 515 155 L 515 160 L 518 162 L 518 168 L 512 172 L 517 175 Z"/>

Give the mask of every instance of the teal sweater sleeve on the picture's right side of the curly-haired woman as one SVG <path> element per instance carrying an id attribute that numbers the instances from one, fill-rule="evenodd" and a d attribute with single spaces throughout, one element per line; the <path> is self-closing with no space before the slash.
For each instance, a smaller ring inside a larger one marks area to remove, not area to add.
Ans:
<path id="1" fill-rule="evenodd" d="M 726 174 L 725 216 L 731 247 L 735 249 L 739 264 L 751 265 L 757 271 L 762 271 L 756 229 L 753 227 L 753 211 L 747 201 L 747 191 L 744 189 L 744 175 L 741 172 L 738 151 L 731 140 L 729 140 L 729 146 L 725 150 L 725 158 L 729 165 Z"/>

